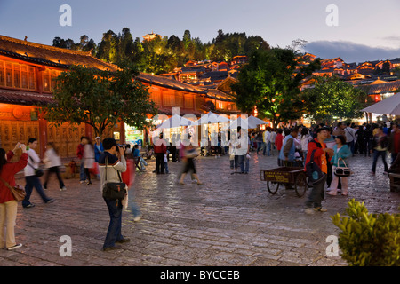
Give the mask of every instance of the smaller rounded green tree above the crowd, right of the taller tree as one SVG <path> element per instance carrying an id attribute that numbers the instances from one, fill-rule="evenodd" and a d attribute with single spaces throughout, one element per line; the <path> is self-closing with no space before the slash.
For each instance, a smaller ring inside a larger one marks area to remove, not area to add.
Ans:
<path id="1" fill-rule="evenodd" d="M 308 117 L 316 122 L 333 122 L 334 120 L 355 119 L 363 116 L 360 110 L 364 107 L 366 94 L 352 84 L 332 77 L 314 77 L 314 88 L 302 93 L 308 109 Z"/>

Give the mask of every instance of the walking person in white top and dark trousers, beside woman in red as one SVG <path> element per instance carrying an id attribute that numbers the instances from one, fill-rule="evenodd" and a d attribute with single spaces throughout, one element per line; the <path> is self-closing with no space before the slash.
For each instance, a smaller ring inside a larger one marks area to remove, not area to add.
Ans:
<path id="1" fill-rule="evenodd" d="M 39 168 L 40 158 L 36 154 L 36 147 L 38 143 L 36 138 L 28 139 L 27 153 L 28 153 L 28 166 L 24 169 L 25 180 L 27 184 L 25 185 L 25 191 L 27 195 L 25 199 L 22 201 L 23 208 L 32 208 L 35 207 L 35 204 L 29 201 L 30 195 L 32 194 L 32 190 L 35 187 L 36 192 L 39 193 L 40 197 L 44 201 L 44 203 L 52 203 L 54 200 L 52 198 L 47 197 L 44 193 L 42 183 L 40 182 L 39 177 L 36 177 L 35 170 Z"/>

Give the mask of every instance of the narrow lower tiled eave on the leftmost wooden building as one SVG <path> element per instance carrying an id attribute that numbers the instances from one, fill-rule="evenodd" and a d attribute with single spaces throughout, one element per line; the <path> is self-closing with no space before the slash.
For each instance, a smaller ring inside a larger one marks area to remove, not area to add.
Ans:
<path id="1" fill-rule="evenodd" d="M 4 104 L 38 106 L 47 105 L 53 102 L 54 99 L 51 94 L 0 89 L 0 103 Z"/>

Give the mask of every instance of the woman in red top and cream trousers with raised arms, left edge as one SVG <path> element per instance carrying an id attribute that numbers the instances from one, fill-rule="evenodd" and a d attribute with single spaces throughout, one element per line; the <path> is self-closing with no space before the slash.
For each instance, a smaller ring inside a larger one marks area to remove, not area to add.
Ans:
<path id="1" fill-rule="evenodd" d="M 19 162 L 9 162 L 17 149 L 22 150 Z M 7 154 L 0 148 L 0 177 L 11 186 L 15 186 L 15 174 L 24 169 L 28 163 L 27 146 L 15 146 Z M 15 242 L 14 226 L 17 219 L 17 201 L 14 200 L 11 190 L 0 180 L 0 248 L 8 250 L 20 248 L 22 245 Z M 5 232 L 4 232 L 5 227 Z"/>

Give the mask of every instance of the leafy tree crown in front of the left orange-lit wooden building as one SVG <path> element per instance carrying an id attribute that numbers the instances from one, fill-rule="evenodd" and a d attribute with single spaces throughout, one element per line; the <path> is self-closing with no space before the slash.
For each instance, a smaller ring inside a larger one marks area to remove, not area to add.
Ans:
<path id="1" fill-rule="evenodd" d="M 71 66 L 56 79 L 55 103 L 42 108 L 44 117 L 55 125 L 89 124 L 100 137 L 121 121 L 143 129 L 148 125 L 146 114 L 156 114 L 156 108 L 148 89 L 133 80 L 137 74 L 131 65 L 114 73 Z"/>

